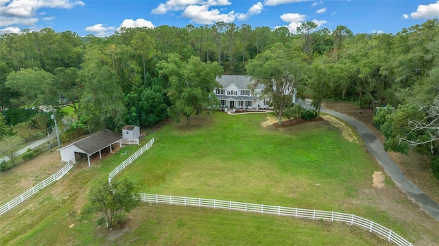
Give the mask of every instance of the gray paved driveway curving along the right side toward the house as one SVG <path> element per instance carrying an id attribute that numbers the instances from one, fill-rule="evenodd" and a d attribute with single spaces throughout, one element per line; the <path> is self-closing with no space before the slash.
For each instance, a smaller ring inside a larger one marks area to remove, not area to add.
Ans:
<path id="1" fill-rule="evenodd" d="M 313 108 L 311 107 L 311 101 L 298 101 L 298 103 L 305 106 L 305 108 Z M 405 177 L 404 173 L 399 169 L 399 167 L 394 164 L 393 160 L 388 156 L 387 152 L 384 151 L 383 145 L 377 139 L 377 136 L 373 134 L 372 131 L 369 130 L 366 125 L 353 119 L 345 114 L 340 114 L 339 112 L 335 112 L 332 110 L 322 109 L 321 112 L 331 114 L 337 118 L 346 121 L 351 124 L 357 132 L 363 138 L 364 143 L 366 143 L 366 147 L 368 147 L 372 156 L 377 159 L 379 164 L 383 166 L 385 172 L 392 178 L 393 182 L 398 186 L 400 190 L 402 190 L 410 200 L 414 203 L 418 204 L 421 210 L 427 212 L 431 217 L 434 217 L 439 221 L 439 205 L 436 204 L 433 199 L 431 199 L 427 194 L 425 194 L 418 186 L 413 184 L 407 177 Z"/>

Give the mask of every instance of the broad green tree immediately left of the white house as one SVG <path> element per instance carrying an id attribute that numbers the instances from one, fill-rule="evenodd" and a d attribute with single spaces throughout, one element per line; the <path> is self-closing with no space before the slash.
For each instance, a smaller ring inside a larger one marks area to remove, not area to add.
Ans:
<path id="1" fill-rule="evenodd" d="M 157 70 L 169 81 L 167 96 L 172 103 L 169 116 L 176 121 L 185 116 L 186 124 L 190 125 L 192 114 L 200 114 L 217 104 L 213 88 L 218 86 L 215 78 L 222 75 L 223 70 L 217 62 L 203 63 L 195 56 L 187 62 L 180 59 L 178 54 L 172 53 L 167 61 L 158 62 Z"/>

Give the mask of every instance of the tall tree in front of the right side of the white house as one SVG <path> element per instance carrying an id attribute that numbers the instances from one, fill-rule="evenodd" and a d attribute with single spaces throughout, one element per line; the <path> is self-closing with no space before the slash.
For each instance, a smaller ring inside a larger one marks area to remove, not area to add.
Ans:
<path id="1" fill-rule="evenodd" d="M 292 54 L 281 43 L 250 60 L 246 66 L 248 75 L 254 79 L 252 89 L 263 84 L 261 97 L 272 100 L 273 109 L 278 116 L 278 124 L 282 124 L 283 111 L 292 105 L 294 89 L 300 83 L 303 63 L 297 54 Z"/>

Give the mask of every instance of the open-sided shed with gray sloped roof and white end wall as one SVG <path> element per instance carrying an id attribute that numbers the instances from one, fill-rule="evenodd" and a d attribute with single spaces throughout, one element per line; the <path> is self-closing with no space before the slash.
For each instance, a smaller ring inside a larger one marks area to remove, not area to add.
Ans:
<path id="1" fill-rule="evenodd" d="M 106 129 L 86 138 L 83 138 L 79 141 L 76 141 L 71 145 L 62 147 L 61 149 L 58 149 L 58 151 L 60 151 L 61 160 L 63 160 L 64 162 L 69 162 L 70 160 L 73 160 L 73 163 L 76 162 L 75 153 L 85 153 L 88 158 L 88 167 L 90 167 L 90 156 L 93 155 L 93 153 L 99 152 L 99 158 L 102 159 L 102 149 L 110 147 L 110 152 L 112 152 L 111 145 L 117 142 L 119 142 L 120 145 L 120 140 L 121 136 Z"/>

